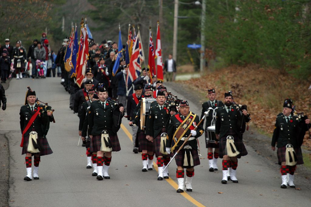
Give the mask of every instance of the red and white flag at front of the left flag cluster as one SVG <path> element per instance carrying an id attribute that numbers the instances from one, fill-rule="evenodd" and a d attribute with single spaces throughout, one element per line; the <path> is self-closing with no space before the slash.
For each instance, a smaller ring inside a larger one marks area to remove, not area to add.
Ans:
<path id="1" fill-rule="evenodd" d="M 86 61 L 88 60 L 89 56 L 89 43 L 87 41 L 87 30 L 86 27 L 83 27 L 83 24 L 81 24 L 80 45 L 78 51 L 79 52 L 77 57 L 76 83 L 79 87 L 81 87 L 82 80 L 84 79 L 85 76 Z"/>

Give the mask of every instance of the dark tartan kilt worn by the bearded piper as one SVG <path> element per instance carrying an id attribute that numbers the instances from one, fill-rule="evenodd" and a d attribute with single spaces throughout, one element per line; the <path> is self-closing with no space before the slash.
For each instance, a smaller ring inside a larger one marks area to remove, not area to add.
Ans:
<path id="1" fill-rule="evenodd" d="M 244 146 L 243 140 L 239 138 L 239 136 L 234 132 L 233 129 L 229 129 L 224 137 L 221 137 L 219 140 L 219 157 L 223 158 L 224 155 L 227 155 L 226 152 L 226 143 L 227 136 L 231 135 L 234 138 L 234 145 L 236 149 L 240 152 L 237 158 L 241 158 L 241 156 L 247 155 L 247 150 Z"/>

